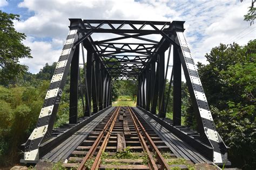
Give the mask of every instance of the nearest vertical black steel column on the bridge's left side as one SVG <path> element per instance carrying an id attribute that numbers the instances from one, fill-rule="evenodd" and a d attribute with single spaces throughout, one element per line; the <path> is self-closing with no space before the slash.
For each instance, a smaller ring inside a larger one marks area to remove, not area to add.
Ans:
<path id="1" fill-rule="evenodd" d="M 77 123 L 79 46 L 76 47 L 70 67 L 69 123 Z"/>

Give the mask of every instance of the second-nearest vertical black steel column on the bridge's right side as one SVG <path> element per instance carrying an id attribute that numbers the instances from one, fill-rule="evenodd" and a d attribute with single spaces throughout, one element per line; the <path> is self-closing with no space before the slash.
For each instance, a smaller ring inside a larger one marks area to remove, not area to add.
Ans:
<path id="1" fill-rule="evenodd" d="M 159 117 L 163 117 L 165 118 L 165 102 L 161 102 L 161 99 L 163 98 L 164 99 L 164 87 L 165 87 L 165 73 L 164 73 L 164 52 L 161 52 L 160 55 L 159 55 L 159 58 L 158 58 L 158 64 L 159 64 L 159 114 L 158 116 Z"/>

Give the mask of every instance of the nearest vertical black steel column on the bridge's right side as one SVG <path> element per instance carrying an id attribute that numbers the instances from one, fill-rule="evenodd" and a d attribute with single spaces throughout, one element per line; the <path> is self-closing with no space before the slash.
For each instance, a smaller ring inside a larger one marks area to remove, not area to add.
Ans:
<path id="1" fill-rule="evenodd" d="M 181 62 L 178 48 L 173 48 L 173 125 L 181 124 Z"/>

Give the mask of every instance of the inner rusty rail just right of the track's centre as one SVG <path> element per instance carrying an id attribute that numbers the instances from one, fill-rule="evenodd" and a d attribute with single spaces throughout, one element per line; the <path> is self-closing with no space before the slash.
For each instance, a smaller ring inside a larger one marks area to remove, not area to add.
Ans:
<path id="1" fill-rule="evenodd" d="M 157 165 L 156 165 L 156 162 L 154 161 L 153 159 L 153 156 L 152 154 L 150 153 L 150 150 L 149 150 L 149 147 L 147 147 L 147 144 L 146 144 L 146 141 L 144 140 L 143 136 L 142 136 L 142 133 L 140 133 L 139 131 L 139 128 L 138 128 L 138 125 L 136 123 L 136 120 L 137 117 L 135 117 L 135 115 L 132 114 L 132 110 L 130 107 L 127 107 L 130 114 L 131 114 L 131 117 L 132 117 L 132 122 L 134 124 L 134 128 L 135 130 L 137 131 L 138 133 L 138 137 L 139 137 L 139 141 L 140 143 L 142 144 L 142 147 L 143 147 L 143 150 L 144 150 L 144 153 L 147 154 L 147 157 L 149 158 L 149 166 L 150 166 L 150 169 L 158 169 L 157 168 Z M 134 118 L 135 117 L 135 118 Z M 138 121 L 138 120 L 137 120 Z"/>

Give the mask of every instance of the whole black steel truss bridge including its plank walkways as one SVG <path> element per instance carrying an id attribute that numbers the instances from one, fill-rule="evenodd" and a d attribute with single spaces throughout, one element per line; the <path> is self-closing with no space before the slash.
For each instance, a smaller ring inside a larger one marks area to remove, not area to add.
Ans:
<path id="1" fill-rule="evenodd" d="M 43 160 L 57 162 L 71 159 L 74 152 L 80 153 L 78 148 L 82 147 L 81 144 L 85 144 L 84 148 L 92 147 L 87 137 L 98 129 L 96 127 L 103 128 L 100 123 L 109 116 L 109 121 L 123 121 L 124 134 L 128 131 L 127 127 L 131 129 L 131 124 L 126 122 L 138 117 L 139 122 L 143 121 L 147 124 L 146 127 L 151 127 L 158 135 L 156 138 L 161 139 L 177 158 L 184 158 L 193 163 L 230 164 L 227 160 L 227 146 L 215 128 L 197 66 L 184 36 L 183 21 L 70 19 L 69 28 L 36 128 L 22 145 L 24 159 L 21 162 L 37 164 Z M 83 58 L 83 82 L 79 76 L 79 58 Z M 171 62 L 172 66 L 170 66 Z M 198 131 L 181 125 L 181 68 L 196 114 Z M 69 123 L 53 129 L 69 72 Z M 170 76 L 168 72 L 171 72 Z M 165 93 L 167 79 L 170 80 L 170 86 Z M 120 108 L 117 111 L 116 107 L 112 107 L 112 84 L 118 80 L 134 81 L 137 84 L 137 107 L 125 108 L 123 112 Z M 166 118 L 171 88 L 173 88 L 172 120 Z M 82 94 L 84 110 L 84 117 L 80 118 L 77 108 L 79 94 Z M 125 118 L 128 110 L 131 115 Z M 110 117 L 111 114 L 120 115 Z M 140 124 L 138 120 L 137 124 Z M 102 131 L 107 130 L 109 126 L 106 125 Z M 132 126 L 137 127 L 136 123 Z M 114 127 L 113 125 L 112 128 Z M 142 130 L 143 127 L 138 126 L 137 129 Z M 134 131 L 134 133 L 140 132 Z M 142 135 L 146 136 L 145 133 Z M 98 138 L 99 136 L 93 143 L 97 143 Z M 119 139 L 120 135 L 110 138 Z M 129 138 L 129 135 L 126 135 L 126 138 Z M 119 145 L 118 139 L 117 145 Z M 149 143 L 149 140 L 151 139 L 146 139 L 146 142 Z M 157 141 L 153 143 L 157 145 Z M 143 144 L 139 146 L 146 150 Z M 110 148 L 107 144 L 104 150 L 108 149 Z M 150 149 L 156 151 L 155 148 Z M 87 157 L 89 152 L 91 151 L 86 150 Z M 93 155 L 94 152 L 91 154 Z M 84 159 L 81 161 L 84 163 Z"/>

